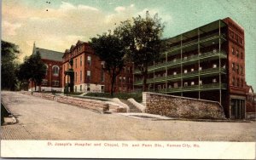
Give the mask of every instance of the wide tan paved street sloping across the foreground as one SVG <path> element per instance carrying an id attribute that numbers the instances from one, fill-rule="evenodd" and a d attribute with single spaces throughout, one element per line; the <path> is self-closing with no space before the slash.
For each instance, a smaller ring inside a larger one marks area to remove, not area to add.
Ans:
<path id="1" fill-rule="evenodd" d="M 1 127 L 2 140 L 256 140 L 255 122 L 153 121 L 100 114 L 15 92 L 1 95 L 17 119 Z"/>

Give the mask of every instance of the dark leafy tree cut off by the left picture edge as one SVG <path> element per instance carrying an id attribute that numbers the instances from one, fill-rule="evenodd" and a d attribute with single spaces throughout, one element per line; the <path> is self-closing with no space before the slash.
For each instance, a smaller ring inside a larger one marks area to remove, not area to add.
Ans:
<path id="1" fill-rule="evenodd" d="M 2 89 L 15 90 L 17 78 L 15 59 L 20 53 L 19 46 L 15 43 L 1 41 L 1 86 Z"/>

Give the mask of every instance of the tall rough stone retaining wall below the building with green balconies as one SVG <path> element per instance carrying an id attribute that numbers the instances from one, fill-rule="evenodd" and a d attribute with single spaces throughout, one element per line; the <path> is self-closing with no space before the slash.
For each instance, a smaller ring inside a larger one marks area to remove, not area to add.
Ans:
<path id="1" fill-rule="evenodd" d="M 167 94 L 143 93 L 145 112 L 166 117 L 224 119 L 223 107 L 215 101 L 198 100 Z"/>

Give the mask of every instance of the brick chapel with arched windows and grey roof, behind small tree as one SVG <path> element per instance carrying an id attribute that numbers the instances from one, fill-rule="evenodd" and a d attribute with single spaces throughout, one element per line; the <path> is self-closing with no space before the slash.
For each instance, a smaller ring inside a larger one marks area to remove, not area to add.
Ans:
<path id="1" fill-rule="evenodd" d="M 61 91 L 62 80 L 62 55 L 61 52 L 56 52 L 49 49 L 37 48 L 36 44 L 33 45 L 32 54 L 39 53 L 47 68 L 45 77 L 43 79 L 41 90 L 42 91 Z M 37 88 L 37 90 L 39 87 Z M 29 90 L 35 90 L 32 83 L 29 84 Z"/>

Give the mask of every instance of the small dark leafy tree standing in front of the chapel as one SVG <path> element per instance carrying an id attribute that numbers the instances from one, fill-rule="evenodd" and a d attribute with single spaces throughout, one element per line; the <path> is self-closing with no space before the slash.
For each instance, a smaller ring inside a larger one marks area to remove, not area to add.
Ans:
<path id="1" fill-rule="evenodd" d="M 21 81 L 27 82 L 31 80 L 35 84 L 35 90 L 37 85 L 40 87 L 42 80 L 45 77 L 46 66 L 41 59 L 39 52 L 32 54 L 30 57 L 26 57 L 24 63 L 20 65 L 18 77 Z M 40 88 L 39 88 L 40 90 Z"/>

